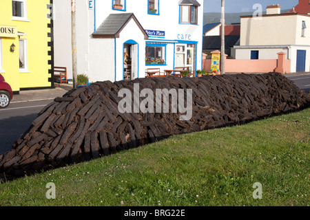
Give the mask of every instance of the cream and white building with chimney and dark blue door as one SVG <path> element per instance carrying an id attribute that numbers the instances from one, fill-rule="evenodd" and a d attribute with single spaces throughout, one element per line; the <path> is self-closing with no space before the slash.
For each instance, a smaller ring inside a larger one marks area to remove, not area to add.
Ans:
<path id="1" fill-rule="evenodd" d="M 280 14 L 280 5 L 269 5 L 262 17 L 240 18 L 236 59 L 277 59 L 279 52 L 285 52 L 291 72 L 310 71 L 310 14 L 295 10 Z"/>

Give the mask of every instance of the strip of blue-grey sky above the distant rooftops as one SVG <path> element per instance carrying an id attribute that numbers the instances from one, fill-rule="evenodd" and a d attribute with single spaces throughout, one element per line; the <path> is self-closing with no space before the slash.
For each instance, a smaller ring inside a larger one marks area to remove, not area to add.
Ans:
<path id="1" fill-rule="evenodd" d="M 265 11 L 272 4 L 279 4 L 281 9 L 291 9 L 298 4 L 298 0 L 225 0 L 225 13 L 254 12 L 257 10 L 254 8 L 256 3 L 262 5 L 262 11 Z M 220 12 L 220 9 L 221 0 L 204 0 L 205 12 Z"/>

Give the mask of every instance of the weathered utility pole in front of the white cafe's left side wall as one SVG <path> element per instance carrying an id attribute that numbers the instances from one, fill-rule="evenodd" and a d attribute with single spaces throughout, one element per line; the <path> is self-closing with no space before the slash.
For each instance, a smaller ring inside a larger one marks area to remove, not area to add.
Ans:
<path id="1" fill-rule="evenodd" d="M 76 0 L 71 0 L 71 36 L 72 36 L 72 76 L 73 88 L 77 88 L 77 61 L 76 61 Z"/>

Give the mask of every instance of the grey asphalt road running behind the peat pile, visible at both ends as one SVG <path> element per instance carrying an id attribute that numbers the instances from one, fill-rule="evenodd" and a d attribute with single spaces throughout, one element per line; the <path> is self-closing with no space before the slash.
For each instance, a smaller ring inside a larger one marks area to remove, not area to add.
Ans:
<path id="1" fill-rule="evenodd" d="M 295 84 L 310 91 L 310 74 L 287 76 Z M 12 103 L 6 109 L 0 109 L 0 155 L 10 151 L 12 144 L 27 131 L 37 114 L 52 100 Z"/>

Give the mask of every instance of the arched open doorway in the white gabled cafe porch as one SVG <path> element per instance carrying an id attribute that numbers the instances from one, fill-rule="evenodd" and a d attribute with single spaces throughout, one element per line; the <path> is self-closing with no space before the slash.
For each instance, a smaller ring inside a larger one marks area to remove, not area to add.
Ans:
<path id="1" fill-rule="evenodd" d="M 134 80 L 138 77 L 138 44 L 124 43 L 124 79 Z"/>

